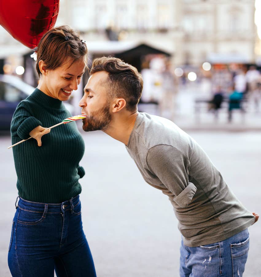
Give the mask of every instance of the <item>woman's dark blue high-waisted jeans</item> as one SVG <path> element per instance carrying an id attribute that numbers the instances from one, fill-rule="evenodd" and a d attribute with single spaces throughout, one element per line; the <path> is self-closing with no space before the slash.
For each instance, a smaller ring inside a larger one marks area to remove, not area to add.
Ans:
<path id="1" fill-rule="evenodd" d="M 94 277 L 79 195 L 60 204 L 19 199 L 13 220 L 8 266 L 13 277 Z"/>

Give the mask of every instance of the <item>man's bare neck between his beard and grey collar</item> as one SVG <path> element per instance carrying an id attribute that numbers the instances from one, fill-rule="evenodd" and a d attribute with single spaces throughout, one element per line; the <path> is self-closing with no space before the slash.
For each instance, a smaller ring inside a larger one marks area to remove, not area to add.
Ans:
<path id="1" fill-rule="evenodd" d="M 137 116 L 138 111 L 127 116 L 116 116 L 114 119 L 111 120 L 108 128 L 102 131 L 112 138 L 119 140 L 120 142 L 123 142 L 125 145 L 127 145 Z"/>

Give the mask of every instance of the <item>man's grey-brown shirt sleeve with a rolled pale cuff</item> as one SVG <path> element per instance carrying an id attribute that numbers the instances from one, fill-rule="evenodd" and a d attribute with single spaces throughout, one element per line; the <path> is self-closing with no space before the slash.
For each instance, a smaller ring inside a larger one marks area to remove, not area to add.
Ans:
<path id="1" fill-rule="evenodd" d="M 147 165 L 173 193 L 177 205 L 182 208 L 189 205 L 197 188 L 189 182 L 190 162 L 180 150 L 169 145 L 154 146 L 148 151 Z"/>

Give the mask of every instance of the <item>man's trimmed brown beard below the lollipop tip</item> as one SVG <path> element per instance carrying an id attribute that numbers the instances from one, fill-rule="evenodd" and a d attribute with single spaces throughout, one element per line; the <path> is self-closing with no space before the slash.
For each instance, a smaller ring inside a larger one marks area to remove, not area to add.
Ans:
<path id="1" fill-rule="evenodd" d="M 111 121 L 110 106 L 106 103 L 98 111 L 88 113 L 83 119 L 83 129 L 85 132 L 106 130 Z"/>

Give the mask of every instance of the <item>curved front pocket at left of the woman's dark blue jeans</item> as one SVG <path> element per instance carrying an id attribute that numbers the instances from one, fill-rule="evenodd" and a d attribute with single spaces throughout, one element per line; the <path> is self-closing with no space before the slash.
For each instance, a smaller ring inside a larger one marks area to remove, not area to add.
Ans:
<path id="1" fill-rule="evenodd" d="M 18 224 L 36 225 L 45 219 L 48 210 L 48 204 L 45 204 L 44 212 L 25 210 L 21 209 L 19 206 L 18 209 L 20 209 L 17 220 Z"/>

